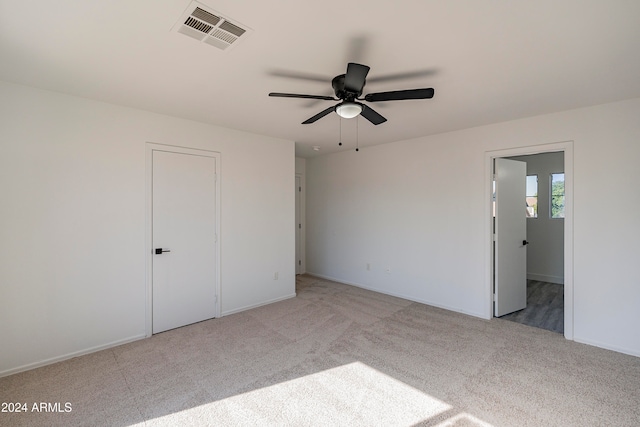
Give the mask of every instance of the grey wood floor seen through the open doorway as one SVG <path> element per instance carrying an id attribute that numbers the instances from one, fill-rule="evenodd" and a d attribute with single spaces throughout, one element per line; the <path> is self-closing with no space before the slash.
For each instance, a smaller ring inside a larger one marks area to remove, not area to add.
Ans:
<path id="1" fill-rule="evenodd" d="M 500 318 L 562 334 L 564 333 L 564 286 L 527 280 L 527 308 Z"/>

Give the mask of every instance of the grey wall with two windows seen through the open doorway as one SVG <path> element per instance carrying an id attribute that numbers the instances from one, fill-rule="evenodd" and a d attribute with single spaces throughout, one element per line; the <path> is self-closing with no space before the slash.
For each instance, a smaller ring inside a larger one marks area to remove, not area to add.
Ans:
<path id="1" fill-rule="evenodd" d="M 564 283 L 564 218 L 551 218 L 551 174 L 564 172 L 564 153 L 510 157 L 538 176 L 538 217 L 527 218 L 527 279 Z"/>

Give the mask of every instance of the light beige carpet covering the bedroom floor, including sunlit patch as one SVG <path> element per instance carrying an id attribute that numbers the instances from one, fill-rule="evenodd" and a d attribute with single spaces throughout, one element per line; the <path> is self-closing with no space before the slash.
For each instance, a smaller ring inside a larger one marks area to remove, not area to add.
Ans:
<path id="1" fill-rule="evenodd" d="M 29 406 L 0 425 L 640 425 L 640 358 L 311 276 L 297 285 L 287 301 L 0 378 L 2 402 Z"/>

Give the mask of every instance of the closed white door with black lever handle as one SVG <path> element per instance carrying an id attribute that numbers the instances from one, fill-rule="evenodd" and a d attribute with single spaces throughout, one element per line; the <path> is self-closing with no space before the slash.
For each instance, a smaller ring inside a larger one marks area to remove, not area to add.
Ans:
<path id="1" fill-rule="evenodd" d="M 216 159 L 153 151 L 152 329 L 216 315 Z"/>

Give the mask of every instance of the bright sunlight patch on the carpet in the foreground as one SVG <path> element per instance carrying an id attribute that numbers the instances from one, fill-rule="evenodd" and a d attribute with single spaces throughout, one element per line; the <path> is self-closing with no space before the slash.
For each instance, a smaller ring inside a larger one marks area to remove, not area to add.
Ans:
<path id="1" fill-rule="evenodd" d="M 173 413 L 171 422 L 218 425 L 411 426 L 446 411 L 439 426 L 489 426 L 361 362 L 262 387 Z M 162 418 L 156 418 L 160 422 Z M 440 420 L 438 420 L 440 421 Z"/>

